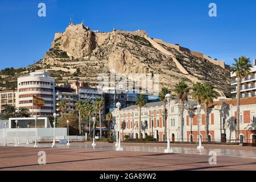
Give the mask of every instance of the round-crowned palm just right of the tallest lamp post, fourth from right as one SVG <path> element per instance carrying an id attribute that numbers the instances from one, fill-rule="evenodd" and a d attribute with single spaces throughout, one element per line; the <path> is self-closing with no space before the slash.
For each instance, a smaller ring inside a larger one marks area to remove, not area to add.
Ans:
<path id="1" fill-rule="evenodd" d="M 184 110 L 184 102 L 188 101 L 189 94 L 189 86 L 184 82 L 180 81 L 175 85 L 174 92 L 176 97 L 180 100 L 180 133 L 181 133 L 181 142 L 183 142 L 183 128 L 184 128 L 184 120 L 183 120 L 183 110 Z"/>

